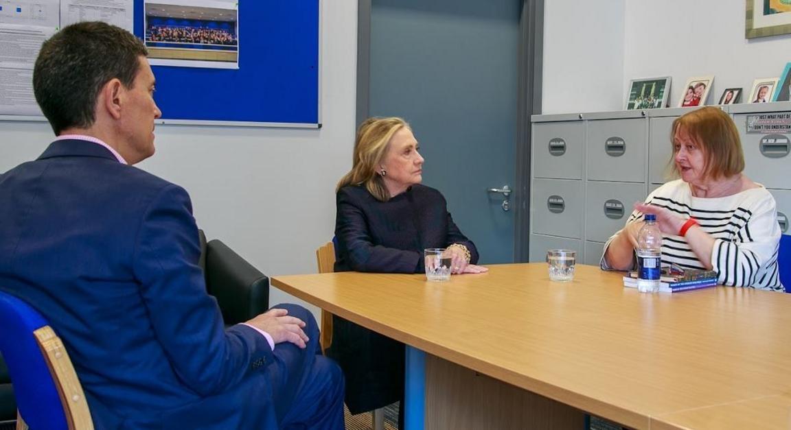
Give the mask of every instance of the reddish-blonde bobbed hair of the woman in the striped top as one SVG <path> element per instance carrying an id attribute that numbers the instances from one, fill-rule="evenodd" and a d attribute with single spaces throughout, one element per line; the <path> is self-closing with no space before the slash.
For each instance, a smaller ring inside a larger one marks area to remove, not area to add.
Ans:
<path id="1" fill-rule="evenodd" d="M 686 131 L 706 154 L 705 175 L 712 179 L 727 178 L 744 170 L 739 130 L 731 117 L 718 107 L 701 107 L 679 116 L 673 121 L 670 144 L 676 156 L 676 132 Z M 672 164 L 673 175 L 679 175 L 676 164 Z"/>

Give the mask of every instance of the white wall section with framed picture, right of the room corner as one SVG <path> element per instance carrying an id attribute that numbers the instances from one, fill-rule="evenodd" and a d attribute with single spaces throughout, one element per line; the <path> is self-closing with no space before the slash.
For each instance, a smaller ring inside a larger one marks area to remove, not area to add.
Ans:
<path id="1" fill-rule="evenodd" d="M 749 96 L 758 77 L 778 77 L 791 61 L 791 36 L 744 39 L 744 1 L 630 0 L 626 2 L 623 75 L 671 76 L 670 105 L 676 106 L 688 77 L 714 75 L 706 104 L 717 104 L 726 88 Z M 651 29 L 649 31 L 649 29 Z"/>

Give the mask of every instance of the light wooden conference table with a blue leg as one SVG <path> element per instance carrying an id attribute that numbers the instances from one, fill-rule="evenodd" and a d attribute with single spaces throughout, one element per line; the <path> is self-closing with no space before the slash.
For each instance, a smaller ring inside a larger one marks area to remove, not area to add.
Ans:
<path id="1" fill-rule="evenodd" d="M 791 294 L 646 295 L 595 266 L 567 283 L 545 263 L 489 268 L 272 285 L 407 344 L 407 430 L 578 430 L 581 411 L 631 428 L 791 428 Z"/>

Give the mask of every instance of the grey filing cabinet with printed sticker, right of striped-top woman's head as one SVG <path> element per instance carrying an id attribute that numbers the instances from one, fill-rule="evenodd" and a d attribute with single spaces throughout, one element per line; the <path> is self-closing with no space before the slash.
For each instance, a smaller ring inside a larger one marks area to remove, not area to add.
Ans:
<path id="1" fill-rule="evenodd" d="M 791 102 L 734 104 L 730 111 L 744 149 L 744 173 L 772 193 L 780 229 L 791 235 L 791 134 L 747 132 L 747 123 L 758 115 L 791 115 Z"/>

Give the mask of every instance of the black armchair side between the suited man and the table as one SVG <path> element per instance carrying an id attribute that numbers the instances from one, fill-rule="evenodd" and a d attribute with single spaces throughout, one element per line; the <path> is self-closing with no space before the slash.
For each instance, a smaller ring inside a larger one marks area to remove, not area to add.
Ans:
<path id="1" fill-rule="evenodd" d="M 269 278 L 221 240 L 206 244 L 206 290 L 217 299 L 226 325 L 269 308 Z"/>

